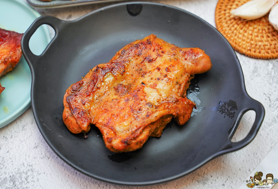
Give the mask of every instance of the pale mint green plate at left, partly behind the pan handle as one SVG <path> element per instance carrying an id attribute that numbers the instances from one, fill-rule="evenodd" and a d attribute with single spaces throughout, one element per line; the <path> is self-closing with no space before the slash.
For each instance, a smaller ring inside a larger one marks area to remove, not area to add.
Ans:
<path id="1" fill-rule="evenodd" d="M 24 33 L 40 14 L 22 0 L 0 0 L 0 28 Z M 41 54 L 51 41 L 47 26 L 38 28 L 29 46 Z M 0 128 L 19 117 L 31 105 L 31 71 L 22 56 L 15 69 L 0 79 Z"/>

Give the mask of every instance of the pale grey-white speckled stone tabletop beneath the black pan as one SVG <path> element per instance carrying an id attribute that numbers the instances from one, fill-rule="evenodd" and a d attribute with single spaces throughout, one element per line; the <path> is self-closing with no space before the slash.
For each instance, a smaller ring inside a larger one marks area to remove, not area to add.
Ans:
<path id="1" fill-rule="evenodd" d="M 153 2 L 177 6 L 192 12 L 215 27 L 214 11 L 217 0 Z M 112 3 L 36 10 L 41 15 L 74 20 L 109 4 Z M 0 188 L 237 189 L 278 142 L 278 60 L 258 60 L 239 53 L 237 56 L 242 66 L 248 94 L 260 101 L 266 110 L 258 134 L 246 147 L 217 157 L 193 173 L 168 183 L 147 187 L 114 185 L 90 178 L 62 161 L 44 141 L 36 126 L 32 109 L 29 108 L 15 121 L 0 129 Z M 254 117 L 255 114 L 252 112 L 244 115 L 234 141 L 247 135 Z M 278 161 L 273 162 L 273 166 L 278 169 Z"/>

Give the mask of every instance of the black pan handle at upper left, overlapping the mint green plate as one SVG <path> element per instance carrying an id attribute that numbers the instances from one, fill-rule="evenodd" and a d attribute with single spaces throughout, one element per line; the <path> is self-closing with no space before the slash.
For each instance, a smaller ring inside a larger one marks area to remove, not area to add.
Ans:
<path id="1" fill-rule="evenodd" d="M 21 39 L 21 49 L 22 49 L 23 56 L 25 57 L 25 59 L 28 62 L 30 67 L 32 67 L 31 63 L 36 62 L 38 60 L 38 58 L 40 58 L 44 54 L 44 52 L 48 49 L 48 46 L 50 45 L 50 43 L 49 43 L 41 55 L 37 56 L 37 55 L 33 54 L 29 47 L 29 41 L 30 41 L 30 38 L 32 37 L 32 35 L 36 32 L 36 30 L 42 24 L 48 24 L 54 29 L 54 31 L 55 31 L 54 38 L 56 38 L 62 22 L 64 22 L 64 21 L 57 19 L 53 16 L 40 16 L 31 24 L 31 26 L 23 34 L 23 37 Z"/>

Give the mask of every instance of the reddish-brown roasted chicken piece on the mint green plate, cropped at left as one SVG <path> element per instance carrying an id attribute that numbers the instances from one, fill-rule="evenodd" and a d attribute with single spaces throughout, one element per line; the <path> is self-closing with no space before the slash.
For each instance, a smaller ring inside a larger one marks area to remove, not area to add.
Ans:
<path id="1" fill-rule="evenodd" d="M 0 28 L 0 77 L 12 71 L 21 58 L 20 41 L 23 33 Z"/>

